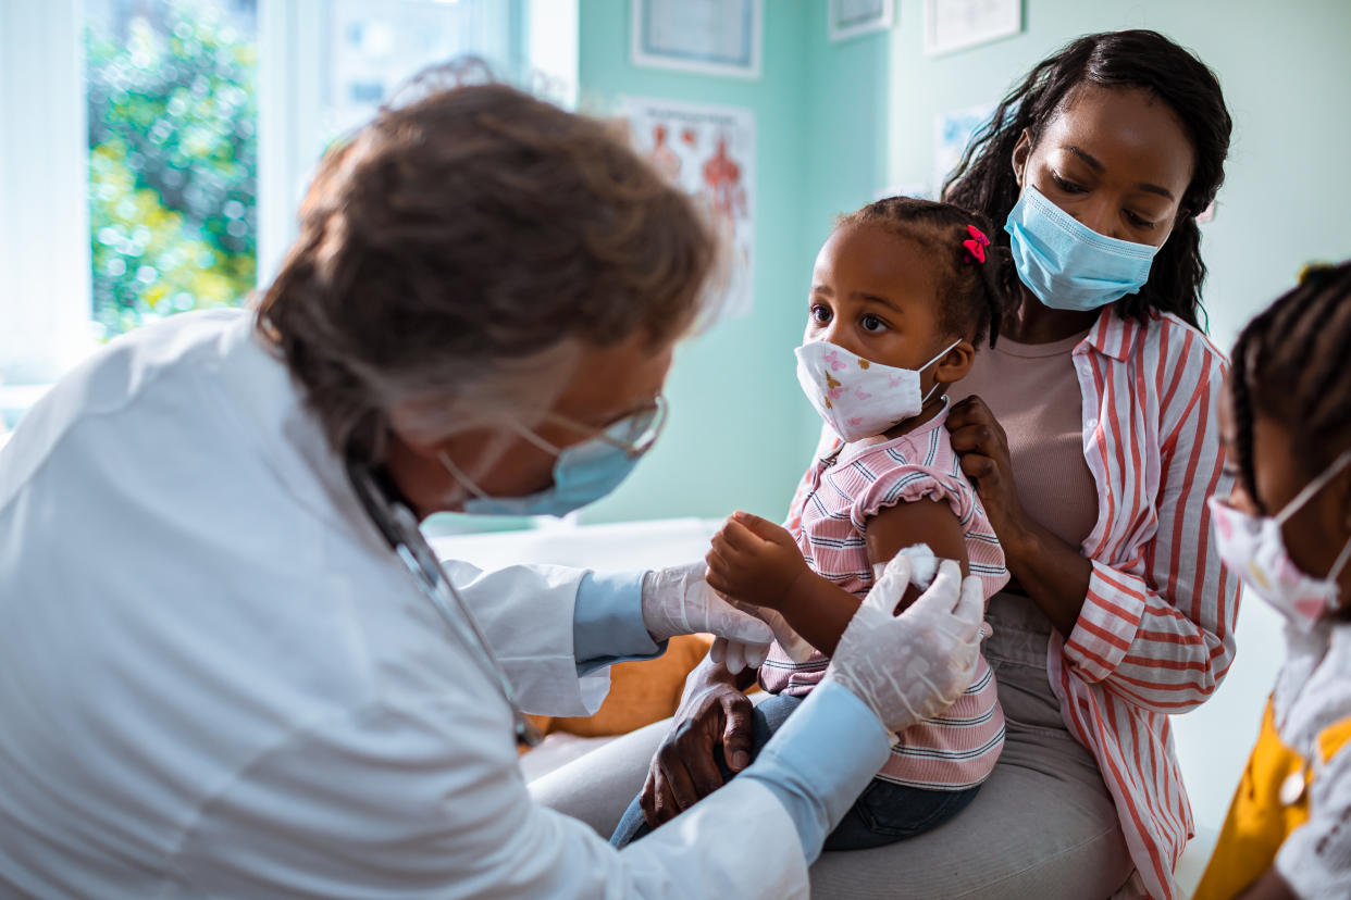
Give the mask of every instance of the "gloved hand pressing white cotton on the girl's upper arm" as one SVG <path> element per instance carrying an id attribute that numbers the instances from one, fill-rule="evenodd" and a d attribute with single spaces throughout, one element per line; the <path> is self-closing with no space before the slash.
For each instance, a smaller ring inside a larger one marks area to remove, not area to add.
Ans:
<path id="1" fill-rule="evenodd" d="M 978 578 L 962 582 L 943 560 L 934 584 L 904 613 L 893 610 L 911 583 L 912 561 L 898 555 L 869 591 L 825 669 L 896 734 L 952 706 L 971 684 L 985 618 Z"/>

